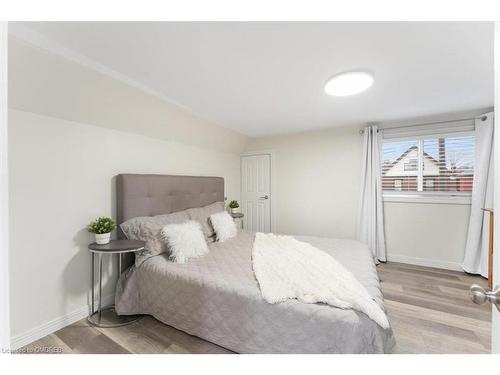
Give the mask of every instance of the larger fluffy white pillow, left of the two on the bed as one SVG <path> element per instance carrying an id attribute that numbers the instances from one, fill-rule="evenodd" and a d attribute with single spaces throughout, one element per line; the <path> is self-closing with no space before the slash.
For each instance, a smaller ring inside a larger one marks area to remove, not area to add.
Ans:
<path id="1" fill-rule="evenodd" d="M 197 221 L 165 225 L 161 235 L 169 248 L 170 259 L 174 262 L 186 263 L 190 258 L 208 253 L 205 236 Z"/>

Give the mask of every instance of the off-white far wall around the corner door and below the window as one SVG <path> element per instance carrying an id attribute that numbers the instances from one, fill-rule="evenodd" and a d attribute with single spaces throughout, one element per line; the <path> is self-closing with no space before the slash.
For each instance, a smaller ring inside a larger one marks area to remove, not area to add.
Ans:
<path id="1" fill-rule="evenodd" d="M 273 151 L 276 230 L 355 238 L 362 140 L 356 127 L 256 138 Z M 460 269 L 470 206 L 386 202 L 388 259 Z"/>

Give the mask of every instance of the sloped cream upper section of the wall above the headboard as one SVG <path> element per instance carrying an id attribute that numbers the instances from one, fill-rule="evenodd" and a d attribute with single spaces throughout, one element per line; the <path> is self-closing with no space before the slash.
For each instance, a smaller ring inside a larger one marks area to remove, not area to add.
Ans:
<path id="1" fill-rule="evenodd" d="M 9 37 L 9 107 L 220 151 L 240 152 L 247 140 L 13 36 Z"/>

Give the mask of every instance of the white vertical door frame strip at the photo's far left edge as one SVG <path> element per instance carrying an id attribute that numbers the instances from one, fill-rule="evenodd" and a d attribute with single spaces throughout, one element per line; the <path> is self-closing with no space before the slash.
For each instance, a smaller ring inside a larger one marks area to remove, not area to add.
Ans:
<path id="1" fill-rule="evenodd" d="M 10 350 L 7 33 L 0 21 L 0 354 Z"/>

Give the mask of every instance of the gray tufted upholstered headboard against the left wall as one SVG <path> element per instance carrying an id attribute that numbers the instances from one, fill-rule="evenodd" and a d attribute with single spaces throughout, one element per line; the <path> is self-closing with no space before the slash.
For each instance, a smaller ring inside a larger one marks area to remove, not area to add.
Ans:
<path id="1" fill-rule="evenodd" d="M 224 178 L 119 174 L 116 177 L 118 224 L 137 216 L 154 216 L 224 202 Z M 118 228 L 118 238 L 124 234 Z"/>

